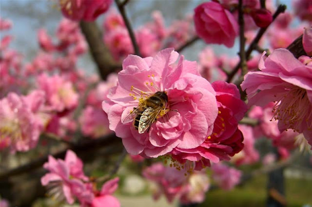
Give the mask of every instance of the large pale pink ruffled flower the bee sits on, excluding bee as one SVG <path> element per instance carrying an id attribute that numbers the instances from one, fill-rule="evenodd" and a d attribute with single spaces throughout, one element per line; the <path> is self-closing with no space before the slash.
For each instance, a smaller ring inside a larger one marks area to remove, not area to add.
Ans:
<path id="1" fill-rule="evenodd" d="M 118 73 L 117 87 L 103 101 L 110 129 L 122 138 L 130 154 L 158 157 L 174 148 L 193 149 L 212 133 L 218 113 L 215 91 L 198 74 L 195 62 L 181 56 L 175 64 L 178 56 L 172 48 L 144 59 L 128 56 Z M 148 131 L 139 133 L 132 120 L 124 120 L 157 91 L 167 94 L 167 107 Z"/>

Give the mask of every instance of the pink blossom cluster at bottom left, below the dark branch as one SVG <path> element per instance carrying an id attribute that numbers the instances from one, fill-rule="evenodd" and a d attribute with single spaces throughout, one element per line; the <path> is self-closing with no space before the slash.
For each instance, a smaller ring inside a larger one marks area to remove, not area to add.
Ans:
<path id="1" fill-rule="evenodd" d="M 85 176 L 83 163 L 77 155 L 68 150 L 65 159 L 55 159 L 49 156 L 48 162 L 43 165 L 49 170 L 41 178 L 41 184 L 48 188 L 48 195 L 60 201 L 73 204 L 75 199 L 81 207 L 120 207 L 120 203 L 112 196 L 118 187 L 118 178 L 107 181 L 98 190 L 95 183 Z"/>

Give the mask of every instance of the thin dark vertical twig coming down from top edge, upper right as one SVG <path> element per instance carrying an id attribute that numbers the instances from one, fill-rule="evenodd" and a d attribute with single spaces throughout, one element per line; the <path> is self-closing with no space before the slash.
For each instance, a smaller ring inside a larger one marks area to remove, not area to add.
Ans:
<path id="1" fill-rule="evenodd" d="M 239 56 L 240 56 L 240 68 L 242 69 L 241 75 L 244 76 L 247 73 L 246 54 L 245 54 L 245 36 L 244 36 L 244 14 L 243 14 L 243 0 L 238 1 L 238 24 L 239 24 Z"/>

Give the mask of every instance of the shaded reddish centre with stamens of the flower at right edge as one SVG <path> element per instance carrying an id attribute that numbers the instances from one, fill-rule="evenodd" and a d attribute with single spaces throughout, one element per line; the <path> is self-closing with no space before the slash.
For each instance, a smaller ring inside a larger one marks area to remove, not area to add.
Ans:
<path id="1" fill-rule="evenodd" d="M 301 132 L 304 122 L 308 130 L 312 128 L 312 108 L 307 91 L 302 88 L 293 88 L 283 94 L 273 107 L 273 118 L 281 121 L 286 129 Z M 273 119 L 272 118 L 272 119 Z M 272 120 L 271 119 L 271 120 Z"/>

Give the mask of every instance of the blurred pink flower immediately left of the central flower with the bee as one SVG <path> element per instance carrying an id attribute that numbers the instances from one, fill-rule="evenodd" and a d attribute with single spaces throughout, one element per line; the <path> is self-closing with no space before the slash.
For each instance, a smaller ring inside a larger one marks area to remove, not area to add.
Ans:
<path id="1" fill-rule="evenodd" d="M 102 109 L 87 106 L 79 118 L 81 131 L 85 136 L 98 138 L 112 131 L 109 129 L 107 114 Z"/>

